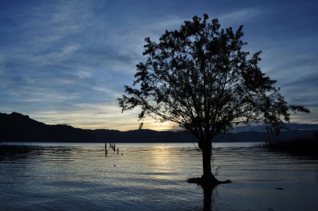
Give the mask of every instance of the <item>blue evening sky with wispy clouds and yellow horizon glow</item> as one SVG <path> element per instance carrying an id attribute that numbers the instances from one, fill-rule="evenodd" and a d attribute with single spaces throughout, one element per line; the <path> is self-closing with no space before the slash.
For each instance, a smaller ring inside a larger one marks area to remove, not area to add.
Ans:
<path id="1" fill-rule="evenodd" d="M 244 25 L 245 49 L 262 51 L 262 72 L 289 104 L 311 111 L 292 114 L 291 123 L 318 126 L 317 11 L 316 0 L 0 0 L 0 112 L 84 129 L 138 129 L 139 110 L 122 114 L 116 98 L 146 59 L 144 38 L 156 41 L 208 14 L 221 28 Z M 146 118 L 143 128 L 178 126 Z"/>

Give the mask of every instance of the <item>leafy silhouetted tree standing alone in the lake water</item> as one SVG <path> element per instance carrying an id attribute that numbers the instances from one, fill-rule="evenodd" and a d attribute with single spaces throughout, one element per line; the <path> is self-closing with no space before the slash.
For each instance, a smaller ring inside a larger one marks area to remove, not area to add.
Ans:
<path id="1" fill-rule="evenodd" d="M 158 43 L 146 38 L 133 86 L 118 98 L 122 112 L 140 107 L 139 120 L 150 116 L 190 131 L 202 150 L 201 181 L 219 183 L 211 173 L 211 140 L 239 123 L 262 123 L 277 134 L 289 122 L 289 109 L 309 113 L 302 105 L 287 105 L 257 63 L 242 50 L 242 28 L 220 29 L 218 19 L 194 16 L 179 30 L 166 31 Z M 143 123 L 140 124 L 140 128 Z"/>

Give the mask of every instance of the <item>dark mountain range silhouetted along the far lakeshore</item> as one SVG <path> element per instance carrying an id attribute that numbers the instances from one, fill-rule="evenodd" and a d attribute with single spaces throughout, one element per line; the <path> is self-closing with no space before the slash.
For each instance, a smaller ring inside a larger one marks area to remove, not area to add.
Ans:
<path id="1" fill-rule="evenodd" d="M 0 142 L 196 142 L 186 131 L 148 129 L 119 131 L 80 129 L 69 125 L 46 125 L 16 112 L 0 113 Z M 214 142 L 251 142 L 313 138 L 314 130 L 282 131 L 280 136 L 263 132 L 219 134 Z"/>

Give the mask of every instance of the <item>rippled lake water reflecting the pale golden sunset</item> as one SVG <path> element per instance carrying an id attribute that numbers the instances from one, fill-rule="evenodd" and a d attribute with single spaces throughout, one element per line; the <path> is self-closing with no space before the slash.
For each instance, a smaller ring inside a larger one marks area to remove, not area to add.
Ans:
<path id="1" fill-rule="evenodd" d="M 217 143 L 218 178 L 232 183 L 203 190 L 186 182 L 202 173 L 192 143 L 117 143 L 107 156 L 103 143 L 33 145 L 0 156 L 1 210 L 318 210 L 317 158 Z"/>

